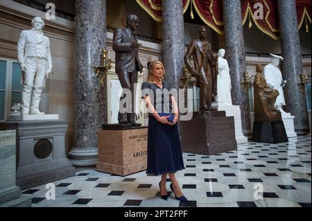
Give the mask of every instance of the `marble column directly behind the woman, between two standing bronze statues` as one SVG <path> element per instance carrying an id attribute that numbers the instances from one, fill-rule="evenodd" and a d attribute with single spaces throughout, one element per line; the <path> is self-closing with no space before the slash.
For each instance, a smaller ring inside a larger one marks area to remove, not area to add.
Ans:
<path id="1" fill-rule="evenodd" d="M 171 88 L 179 89 L 184 66 L 184 21 L 180 0 L 162 0 L 162 51 L 165 78 Z"/>

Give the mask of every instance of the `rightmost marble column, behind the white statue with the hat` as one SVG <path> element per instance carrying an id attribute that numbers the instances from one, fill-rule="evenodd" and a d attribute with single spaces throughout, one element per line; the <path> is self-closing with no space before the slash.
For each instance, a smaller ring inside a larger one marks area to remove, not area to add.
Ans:
<path id="1" fill-rule="evenodd" d="M 283 78 L 287 80 L 284 87 L 286 112 L 295 116 L 295 132 L 309 134 L 308 108 L 306 95 L 300 91 L 300 74 L 303 73 L 300 37 L 298 31 L 295 0 L 278 0 L 279 29 L 281 35 L 281 53 Z"/>

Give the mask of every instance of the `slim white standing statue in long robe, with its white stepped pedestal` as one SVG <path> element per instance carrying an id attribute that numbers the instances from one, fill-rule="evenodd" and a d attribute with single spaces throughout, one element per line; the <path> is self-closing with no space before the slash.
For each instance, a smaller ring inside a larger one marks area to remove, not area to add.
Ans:
<path id="1" fill-rule="evenodd" d="M 241 127 L 241 109 L 239 105 L 232 105 L 231 97 L 231 78 L 229 76 L 229 64 L 223 57 L 225 50 L 218 51 L 218 78 L 217 78 L 217 103 L 218 111 L 225 111 L 226 116 L 234 116 L 235 139 L 238 144 L 247 143 L 248 139 L 244 136 Z"/>

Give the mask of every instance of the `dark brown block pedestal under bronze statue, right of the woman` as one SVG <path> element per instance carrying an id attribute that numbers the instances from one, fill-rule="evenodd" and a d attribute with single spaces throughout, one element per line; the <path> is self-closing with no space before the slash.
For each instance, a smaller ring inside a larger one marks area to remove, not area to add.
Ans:
<path id="1" fill-rule="evenodd" d="M 237 150 L 234 117 L 225 112 L 194 112 L 191 121 L 181 121 L 182 150 L 213 155 Z"/>

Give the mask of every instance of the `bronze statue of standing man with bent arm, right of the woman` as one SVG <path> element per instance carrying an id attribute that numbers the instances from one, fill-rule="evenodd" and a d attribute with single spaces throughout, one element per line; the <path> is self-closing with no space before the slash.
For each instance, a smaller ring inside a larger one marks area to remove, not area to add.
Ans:
<path id="1" fill-rule="evenodd" d="M 189 44 L 184 62 L 191 76 L 196 78 L 197 86 L 200 87 L 200 110 L 207 111 L 211 109 L 211 103 L 217 95 L 218 54 L 211 51 L 204 26 L 198 29 L 198 34 L 199 37 Z M 194 67 L 191 65 L 192 56 Z"/>

